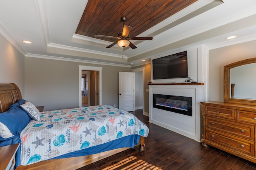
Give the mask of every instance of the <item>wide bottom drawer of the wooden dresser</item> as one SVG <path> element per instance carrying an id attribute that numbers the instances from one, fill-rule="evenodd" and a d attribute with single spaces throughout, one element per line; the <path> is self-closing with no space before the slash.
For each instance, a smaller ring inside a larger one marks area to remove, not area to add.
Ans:
<path id="1" fill-rule="evenodd" d="M 232 150 L 237 150 L 239 152 L 243 152 L 245 154 L 249 154 L 254 156 L 254 142 L 247 140 L 238 140 L 230 137 L 229 135 L 225 135 L 222 133 L 218 133 L 217 131 L 213 131 L 211 129 L 206 128 L 206 140 L 212 141 L 221 145 L 222 147 L 226 147 Z"/>

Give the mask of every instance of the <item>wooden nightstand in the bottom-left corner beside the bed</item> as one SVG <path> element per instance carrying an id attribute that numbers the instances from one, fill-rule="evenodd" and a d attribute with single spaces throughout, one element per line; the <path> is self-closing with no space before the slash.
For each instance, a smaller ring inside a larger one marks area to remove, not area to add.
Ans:
<path id="1" fill-rule="evenodd" d="M 14 145 L 8 145 L 5 147 L 0 147 L 1 169 L 3 168 L 5 170 L 13 170 L 16 164 L 15 154 L 18 150 L 19 145 L 20 144 L 18 143 Z"/>

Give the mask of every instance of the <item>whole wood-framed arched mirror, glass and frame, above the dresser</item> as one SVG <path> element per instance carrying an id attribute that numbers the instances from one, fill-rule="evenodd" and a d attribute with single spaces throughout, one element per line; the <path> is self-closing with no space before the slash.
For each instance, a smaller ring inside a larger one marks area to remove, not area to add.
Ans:
<path id="1" fill-rule="evenodd" d="M 224 102 L 256 105 L 256 58 L 224 66 Z"/>

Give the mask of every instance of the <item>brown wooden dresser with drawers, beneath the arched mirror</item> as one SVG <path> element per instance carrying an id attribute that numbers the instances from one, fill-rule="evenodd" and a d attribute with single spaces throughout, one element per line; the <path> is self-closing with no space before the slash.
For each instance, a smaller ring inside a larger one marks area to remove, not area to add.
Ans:
<path id="1" fill-rule="evenodd" d="M 201 102 L 202 145 L 210 145 L 256 163 L 256 106 Z"/>

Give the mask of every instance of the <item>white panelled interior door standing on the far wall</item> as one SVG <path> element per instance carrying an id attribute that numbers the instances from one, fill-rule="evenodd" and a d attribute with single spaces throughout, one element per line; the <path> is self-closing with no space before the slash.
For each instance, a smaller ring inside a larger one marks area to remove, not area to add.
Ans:
<path id="1" fill-rule="evenodd" d="M 134 111 L 134 72 L 118 72 L 118 108 Z"/>

